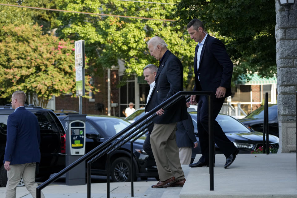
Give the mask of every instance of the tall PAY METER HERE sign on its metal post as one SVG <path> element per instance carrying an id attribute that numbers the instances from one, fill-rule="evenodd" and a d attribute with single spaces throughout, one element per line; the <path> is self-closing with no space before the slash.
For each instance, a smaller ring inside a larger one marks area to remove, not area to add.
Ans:
<path id="1" fill-rule="evenodd" d="M 79 111 L 83 113 L 82 96 L 84 96 L 84 40 L 74 42 L 75 45 L 75 94 L 79 97 Z"/>

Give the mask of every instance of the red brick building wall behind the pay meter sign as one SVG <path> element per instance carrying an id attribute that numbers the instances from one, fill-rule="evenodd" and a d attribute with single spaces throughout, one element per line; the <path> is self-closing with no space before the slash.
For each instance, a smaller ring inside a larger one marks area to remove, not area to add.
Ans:
<path id="1" fill-rule="evenodd" d="M 119 89 L 118 85 L 118 70 L 110 71 L 110 101 L 118 103 Z M 95 101 L 89 101 L 88 98 L 82 98 L 82 113 L 83 114 L 108 114 L 108 87 L 107 87 L 107 70 L 104 71 L 102 77 L 94 77 L 94 86 L 99 88 L 99 93 L 94 95 Z M 101 108 L 103 105 L 103 108 Z M 75 110 L 79 112 L 79 98 L 64 95 L 56 97 L 56 110 Z M 118 107 L 114 108 L 115 116 L 118 116 Z M 113 107 L 111 108 L 113 114 Z"/>

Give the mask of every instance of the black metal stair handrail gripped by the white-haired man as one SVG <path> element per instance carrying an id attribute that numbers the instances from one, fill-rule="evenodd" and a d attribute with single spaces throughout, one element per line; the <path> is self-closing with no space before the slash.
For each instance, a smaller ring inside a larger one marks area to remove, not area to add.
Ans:
<path id="1" fill-rule="evenodd" d="M 138 131 L 138 132 L 136 132 L 136 131 L 139 130 L 140 127 L 143 127 L 144 125 L 147 125 L 149 122 L 151 122 L 151 120 L 154 118 L 154 116 L 157 115 L 155 113 L 157 110 L 159 110 L 161 108 L 167 109 L 168 107 L 173 105 L 176 101 L 180 100 L 183 96 L 186 96 L 186 95 L 200 95 L 200 96 L 206 95 L 206 96 L 208 96 L 208 101 L 209 101 L 209 143 L 210 143 L 209 144 L 209 155 L 210 155 L 210 157 L 209 157 L 209 165 L 210 165 L 209 166 L 209 173 L 210 173 L 210 190 L 213 190 L 213 157 L 212 157 L 214 155 L 213 154 L 214 153 L 214 151 L 213 151 L 214 150 L 213 149 L 214 148 L 214 146 L 213 146 L 214 142 L 213 142 L 213 130 L 212 130 L 212 128 L 213 128 L 213 118 L 212 118 L 213 92 L 211 92 L 211 91 L 180 91 L 180 92 L 174 94 L 172 97 L 170 97 L 166 101 L 162 102 L 160 105 L 156 106 L 153 110 L 149 111 L 143 117 L 136 120 L 134 123 L 132 123 L 131 125 L 129 125 L 125 129 L 123 129 L 122 131 L 120 131 L 116 135 L 110 137 L 108 140 L 106 140 L 105 142 L 103 142 L 102 144 L 100 144 L 99 146 L 97 146 L 96 148 L 94 148 L 93 150 L 91 150 L 90 152 L 85 154 L 84 156 L 80 157 L 79 159 L 77 159 L 76 161 L 71 163 L 69 166 L 65 167 L 63 170 L 58 172 L 52 178 L 46 180 L 44 183 L 42 183 L 40 186 L 38 186 L 36 188 L 37 198 L 40 198 L 41 190 L 43 188 L 48 186 L 50 183 L 56 181 L 59 177 L 61 177 L 63 174 L 65 174 L 66 172 L 68 172 L 69 170 L 74 168 L 76 165 L 80 164 L 81 162 L 87 160 L 89 157 L 91 157 L 95 153 L 98 153 L 102 149 L 106 148 L 111 142 L 118 139 L 120 136 L 127 133 L 126 135 L 121 137 L 119 140 L 117 140 L 114 144 L 110 145 L 108 148 L 101 151 L 101 153 L 99 153 L 98 155 L 93 157 L 90 161 L 88 161 L 88 164 L 87 164 L 88 178 L 87 179 L 88 179 L 88 197 L 90 197 L 90 194 L 91 194 L 90 193 L 90 191 L 91 191 L 90 183 L 91 182 L 90 182 L 90 177 L 89 177 L 89 175 L 90 175 L 90 166 L 89 166 L 89 164 L 91 164 L 93 161 L 97 160 L 99 157 L 101 157 L 102 155 L 109 152 L 111 149 L 113 149 L 113 147 L 116 144 L 118 144 L 121 141 L 125 140 L 128 136 L 130 136 L 129 138 L 134 138 L 136 135 L 138 135 L 141 132 L 141 131 Z M 135 133 L 135 134 L 133 134 L 133 133 Z M 107 192 L 107 193 L 109 195 L 109 192 Z"/>

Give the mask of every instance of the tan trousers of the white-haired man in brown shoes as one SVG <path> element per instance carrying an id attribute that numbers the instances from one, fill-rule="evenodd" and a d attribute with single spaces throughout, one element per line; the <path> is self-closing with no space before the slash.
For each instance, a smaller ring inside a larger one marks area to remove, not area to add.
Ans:
<path id="1" fill-rule="evenodd" d="M 180 166 L 179 148 L 175 141 L 176 125 L 177 123 L 154 124 L 150 135 L 160 181 L 165 181 L 173 176 L 177 180 L 185 177 Z"/>

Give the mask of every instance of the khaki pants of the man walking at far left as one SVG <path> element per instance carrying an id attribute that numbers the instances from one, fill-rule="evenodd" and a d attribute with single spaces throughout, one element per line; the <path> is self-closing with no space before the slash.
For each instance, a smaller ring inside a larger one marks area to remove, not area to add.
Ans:
<path id="1" fill-rule="evenodd" d="M 36 163 L 14 164 L 9 166 L 10 171 L 7 171 L 6 198 L 15 198 L 16 186 L 21 180 L 21 177 L 23 177 L 27 190 L 31 193 L 33 198 L 36 198 L 36 188 L 38 187 L 38 184 L 35 183 Z M 42 192 L 41 198 L 44 198 Z"/>

